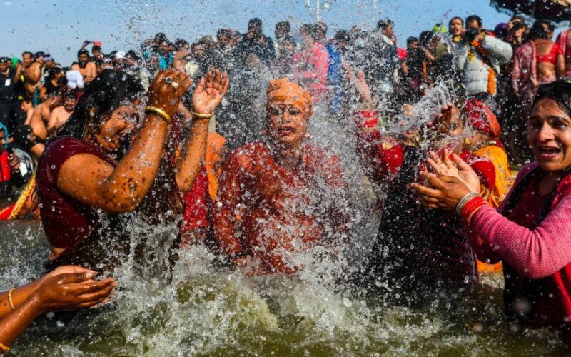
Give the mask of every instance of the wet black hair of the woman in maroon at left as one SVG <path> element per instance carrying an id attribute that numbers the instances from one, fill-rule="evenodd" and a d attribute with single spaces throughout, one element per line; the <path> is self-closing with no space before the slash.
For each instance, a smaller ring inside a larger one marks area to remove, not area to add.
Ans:
<path id="1" fill-rule="evenodd" d="M 94 133 L 108 114 L 141 93 L 143 86 L 133 76 L 123 71 L 103 70 L 85 87 L 74 113 L 51 141 L 65 136 L 82 139 L 85 134 Z"/>

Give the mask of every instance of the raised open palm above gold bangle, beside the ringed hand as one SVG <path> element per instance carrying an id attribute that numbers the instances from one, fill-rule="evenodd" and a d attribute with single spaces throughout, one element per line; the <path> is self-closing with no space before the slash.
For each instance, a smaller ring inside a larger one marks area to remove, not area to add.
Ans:
<path id="1" fill-rule="evenodd" d="M 208 72 L 198 82 L 192 95 L 192 106 L 196 113 L 211 114 L 228 91 L 228 74 L 219 69 Z"/>

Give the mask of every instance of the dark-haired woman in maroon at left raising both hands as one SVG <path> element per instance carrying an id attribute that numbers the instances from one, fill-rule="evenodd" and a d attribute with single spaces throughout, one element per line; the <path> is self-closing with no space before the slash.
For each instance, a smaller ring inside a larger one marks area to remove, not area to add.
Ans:
<path id="1" fill-rule="evenodd" d="M 117 266 L 129 246 L 119 213 L 136 210 L 151 225 L 175 221 L 183 208 L 180 191 L 188 191 L 198 174 L 208 119 L 228 79 L 216 70 L 196 86 L 191 134 L 175 161 L 174 148 L 165 144 L 177 139 L 170 134 L 171 117 L 191 84 L 181 71 L 158 74 L 142 118 L 143 89 L 133 77 L 106 70 L 91 82 L 39 163 L 40 215 L 51 243 L 46 267 Z"/>

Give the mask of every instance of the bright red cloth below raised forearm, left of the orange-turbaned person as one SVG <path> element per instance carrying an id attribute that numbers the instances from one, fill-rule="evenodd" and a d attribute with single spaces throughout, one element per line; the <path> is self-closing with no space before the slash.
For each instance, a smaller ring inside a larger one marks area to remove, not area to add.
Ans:
<path id="1" fill-rule="evenodd" d="M 208 208 L 211 199 L 208 195 L 208 176 L 206 166 L 196 176 L 196 181 L 191 191 L 184 193 L 185 210 L 181 223 L 181 233 L 192 231 L 196 228 L 208 226 Z"/>

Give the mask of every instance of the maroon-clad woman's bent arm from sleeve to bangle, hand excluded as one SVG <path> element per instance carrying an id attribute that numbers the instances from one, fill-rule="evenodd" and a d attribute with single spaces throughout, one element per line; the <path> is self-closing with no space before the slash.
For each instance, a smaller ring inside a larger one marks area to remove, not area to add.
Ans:
<path id="1" fill-rule="evenodd" d="M 116 168 L 91 154 L 71 156 L 61 166 L 58 188 L 108 213 L 133 211 L 155 180 L 166 129 L 160 116 L 147 114 L 146 124 Z"/>

